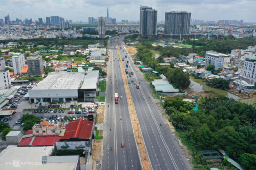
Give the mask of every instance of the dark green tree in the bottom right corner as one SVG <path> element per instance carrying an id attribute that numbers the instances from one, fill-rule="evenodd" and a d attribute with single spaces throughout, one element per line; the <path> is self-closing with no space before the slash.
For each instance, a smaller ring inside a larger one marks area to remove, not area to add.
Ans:
<path id="1" fill-rule="evenodd" d="M 240 164 L 246 170 L 256 170 L 256 155 L 244 153 L 239 158 Z"/>

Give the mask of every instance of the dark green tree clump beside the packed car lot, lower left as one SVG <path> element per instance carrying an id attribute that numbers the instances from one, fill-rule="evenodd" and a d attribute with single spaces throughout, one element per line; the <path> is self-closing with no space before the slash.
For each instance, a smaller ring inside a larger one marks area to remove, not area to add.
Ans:
<path id="1" fill-rule="evenodd" d="M 24 131 L 27 131 L 29 129 L 32 129 L 32 127 L 34 126 L 34 124 L 36 122 L 40 122 L 41 118 L 34 116 L 32 114 L 25 114 L 21 117 L 21 123 L 24 123 Z"/>

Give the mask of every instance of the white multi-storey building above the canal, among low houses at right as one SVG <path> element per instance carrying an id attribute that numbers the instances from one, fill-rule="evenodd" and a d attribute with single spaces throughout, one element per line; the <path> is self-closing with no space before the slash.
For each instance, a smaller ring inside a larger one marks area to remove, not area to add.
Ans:
<path id="1" fill-rule="evenodd" d="M 206 51 L 205 54 L 205 68 L 212 64 L 215 70 L 222 69 L 224 64 L 230 63 L 230 57 L 226 54 L 221 54 L 214 51 Z"/>

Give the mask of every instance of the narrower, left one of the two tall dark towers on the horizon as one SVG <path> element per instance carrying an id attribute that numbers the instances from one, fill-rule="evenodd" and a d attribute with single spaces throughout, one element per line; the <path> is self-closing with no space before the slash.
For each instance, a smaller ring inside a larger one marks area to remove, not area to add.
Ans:
<path id="1" fill-rule="evenodd" d="M 140 6 L 140 36 L 157 35 L 157 12 L 152 7 Z"/>

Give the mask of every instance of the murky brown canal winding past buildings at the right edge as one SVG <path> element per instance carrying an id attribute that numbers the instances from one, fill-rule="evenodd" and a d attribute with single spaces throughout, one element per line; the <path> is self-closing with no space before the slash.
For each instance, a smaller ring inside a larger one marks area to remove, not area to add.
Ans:
<path id="1" fill-rule="evenodd" d="M 244 99 L 242 97 L 238 97 L 238 96 L 236 96 L 232 93 L 229 93 L 228 91 L 215 89 L 215 88 L 212 88 L 210 86 L 207 86 L 206 82 L 204 82 L 202 79 L 195 79 L 194 77 L 190 77 L 190 81 L 191 81 L 191 87 L 190 88 L 195 92 L 212 91 L 213 94 L 225 95 L 228 98 L 233 98 L 233 99 L 235 99 L 237 101 L 241 101 L 243 103 L 253 104 L 253 103 L 256 102 L 255 98 Z"/>

